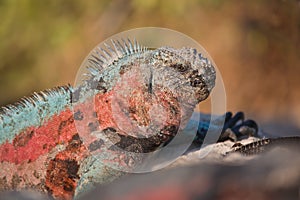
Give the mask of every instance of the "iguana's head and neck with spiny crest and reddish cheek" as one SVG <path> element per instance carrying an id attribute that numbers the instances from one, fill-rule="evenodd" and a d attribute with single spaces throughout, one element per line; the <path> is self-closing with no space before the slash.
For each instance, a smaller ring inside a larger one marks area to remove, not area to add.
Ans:
<path id="1" fill-rule="evenodd" d="M 78 90 L 94 97 L 100 130 L 114 130 L 119 136 L 115 144 L 138 145 L 141 152 L 145 146 L 169 141 L 184 128 L 216 78 L 212 63 L 186 47 L 146 49 L 130 40 L 112 41 L 87 61 L 90 76 Z M 121 140 L 123 136 L 135 142 Z"/>

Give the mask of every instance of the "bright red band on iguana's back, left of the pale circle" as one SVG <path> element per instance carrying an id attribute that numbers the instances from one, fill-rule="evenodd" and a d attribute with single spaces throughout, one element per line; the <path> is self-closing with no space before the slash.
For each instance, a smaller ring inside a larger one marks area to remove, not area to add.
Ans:
<path id="1" fill-rule="evenodd" d="M 57 144 L 67 143 L 75 133 L 72 112 L 68 109 L 53 116 L 44 126 L 27 128 L 12 143 L 6 141 L 2 144 L 0 161 L 15 164 L 35 161 Z"/>

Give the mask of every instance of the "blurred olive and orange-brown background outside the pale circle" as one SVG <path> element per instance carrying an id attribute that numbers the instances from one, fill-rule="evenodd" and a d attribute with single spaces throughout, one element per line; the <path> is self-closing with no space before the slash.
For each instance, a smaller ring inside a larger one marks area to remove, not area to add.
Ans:
<path id="1" fill-rule="evenodd" d="M 0 19 L 0 105 L 73 84 L 99 42 L 157 26 L 209 52 L 228 110 L 244 111 L 268 134 L 300 135 L 299 0 L 0 0 Z"/>

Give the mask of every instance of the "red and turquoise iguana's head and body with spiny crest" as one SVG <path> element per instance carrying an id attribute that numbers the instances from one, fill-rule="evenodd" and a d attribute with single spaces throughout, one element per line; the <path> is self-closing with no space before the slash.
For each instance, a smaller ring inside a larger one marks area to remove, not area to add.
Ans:
<path id="1" fill-rule="evenodd" d="M 2 108 L 1 190 L 72 199 L 111 182 L 142 162 L 116 147 L 156 150 L 214 87 L 214 67 L 194 49 L 112 44 L 91 55 L 90 74 L 76 88 L 57 87 Z"/>

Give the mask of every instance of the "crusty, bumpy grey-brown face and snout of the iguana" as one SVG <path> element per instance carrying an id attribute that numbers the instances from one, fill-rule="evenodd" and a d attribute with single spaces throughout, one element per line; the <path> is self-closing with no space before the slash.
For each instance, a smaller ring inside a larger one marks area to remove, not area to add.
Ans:
<path id="1" fill-rule="evenodd" d="M 216 71 L 212 62 L 194 48 L 161 47 L 153 57 L 154 62 L 158 60 L 158 67 L 175 70 L 171 70 L 170 76 L 178 76 L 177 85 L 191 87 L 188 90 L 198 103 L 208 97 L 215 85 Z"/>

